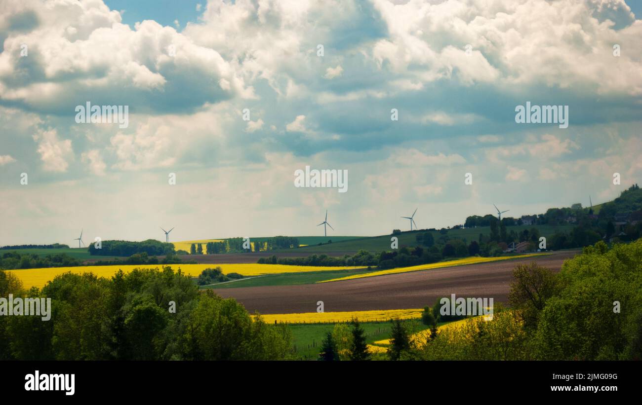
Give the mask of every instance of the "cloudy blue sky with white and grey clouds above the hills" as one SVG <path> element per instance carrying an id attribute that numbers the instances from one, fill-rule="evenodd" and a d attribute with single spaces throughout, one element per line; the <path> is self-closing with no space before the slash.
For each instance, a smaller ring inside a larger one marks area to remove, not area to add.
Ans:
<path id="1" fill-rule="evenodd" d="M 642 179 L 641 3 L 2 1 L 0 245 L 610 201 Z M 78 122 L 87 102 L 128 125 Z M 516 122 L 527 102 L 568 128 Z M 346 192 L 295 186 L 306 166 L 347 170 Z"/>

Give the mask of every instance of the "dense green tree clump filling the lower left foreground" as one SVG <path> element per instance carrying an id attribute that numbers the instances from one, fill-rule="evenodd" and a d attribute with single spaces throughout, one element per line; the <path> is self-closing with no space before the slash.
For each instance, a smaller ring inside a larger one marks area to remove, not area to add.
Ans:
<path id="1" fill-rule="evenodd" d="M 48 321 L 0 317 L 0 360 L 279 360 L 290 351 L 287 327 L 199 293 L 170 267 L 111 279 L 66 273 L 29 291 L 0 271 L 0 296 L 8 293 L 49 297 L 53 309 Z"/>

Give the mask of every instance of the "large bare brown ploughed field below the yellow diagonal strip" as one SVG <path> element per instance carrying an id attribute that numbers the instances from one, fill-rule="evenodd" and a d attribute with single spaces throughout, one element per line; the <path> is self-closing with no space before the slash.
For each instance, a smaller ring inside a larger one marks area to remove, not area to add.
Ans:
<path id="1" fill-rule="evenodd" d="M 537 262 L 559 271 L 564 260 L 577 253 L 555 252 L 538 258 Z M 216 293 L 234 297 L 250 313 L 314 312 L 317 301 L 324 302 L 325 312 L 422 308 L 452 293 L 458 297 L 492 297 L 494 302 L 507 302 L 513 268 L 530 261 L 532 258 L 333 283 L 225 288 Z"/>

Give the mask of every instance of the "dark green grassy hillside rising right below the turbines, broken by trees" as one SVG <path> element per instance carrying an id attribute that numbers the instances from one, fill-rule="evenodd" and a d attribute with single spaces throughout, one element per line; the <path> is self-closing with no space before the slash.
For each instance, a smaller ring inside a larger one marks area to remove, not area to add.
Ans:
<path id="1" fill-rule="evenodd" d="M 546 238 L 550 237 L 553 235 L 553 233 L 557 231 L 561 232 L 569 232 L 571 229 L 573 229 L 573 225 L 559 225 L 559 226 L 551 226 L 551 225 L 539 225 L 539 226 L 509 226 L 507 227 L 507 232 L 510 233 L 510 231 L 515 231 L 516 233 L 520 233 L 524 231 L 525 229 L 532 229 L 536 227 L 539 229 L 540 236 L 545 236 Z M 419 233 L 423 234 L 426 231 L 406 231 L 401 233 L 401 235 L 396 235 L 399 238 L 399 247 L 403 246 L 415 246 L 417 245 L 417 235 Z M 433 238 L 437 240 L 440 236 L 439 231 L 431 231 Z M 473 240 L 478 240 L 479 235 L 482 233 L 483 235 L 489 235 L 490 234 L 490 227 L 485 226 L 485 227 L 476 227 L 476 228 L 467 228 L 467 229 L 449 229 L 447 235 L 450 238 L 460 238 L 460 239 L 465 239 L 467 242 L 472 242 Z M 365 249 L 370 252 L 380 252 L 380 251 L 389 251 L 390 250 L 390 238 L 392 235 L 383 235 L 383 236 L 370 236 L 370 237 L 364 237 L 364 238 L 356 238 L 356 239 L 351 239 L 351 240 L 345 240 L 342 242 L 334 242 L 334 238 L 331 236 L 328 236 L 328 238 L 331 238 L 333 240 L 333 243 L 331 244 L 323 244 L 323 245 L 310 245 L 310 246 L 304 246 L 304 247 L 299 247 L 299 249 L 295 249 L 294 251 L 297 252 L 309 252 L 309 253 L 324 253 L 324 252 L 354 252 L 354 251 L 360 251 L 361 249 Z M 286 252 L 286 251 L 293 251 L 293 249 L 282 249 L 279 251 L 275 252 Z"/>

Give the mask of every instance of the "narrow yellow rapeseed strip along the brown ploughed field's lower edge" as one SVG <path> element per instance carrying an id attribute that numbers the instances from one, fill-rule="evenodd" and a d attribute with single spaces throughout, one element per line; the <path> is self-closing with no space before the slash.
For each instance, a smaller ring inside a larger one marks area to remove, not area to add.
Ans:
<path id="1" fill-rule="evenodd" d="M 306 312 L 306 313 L 282 313 L 261 315 L 268 324 L 276 322 L 307 323 L 315 322 L 350 322 L 357 318 L 360 322 L 385 321 L 394 318 L 410 319 L 421 318 L 422 309 L 412 310 L 376 310 L 376 311 L 345 311 L 345 312 Z"/>

